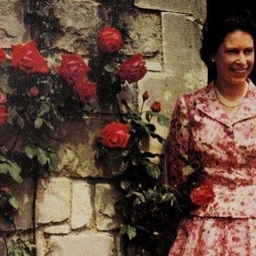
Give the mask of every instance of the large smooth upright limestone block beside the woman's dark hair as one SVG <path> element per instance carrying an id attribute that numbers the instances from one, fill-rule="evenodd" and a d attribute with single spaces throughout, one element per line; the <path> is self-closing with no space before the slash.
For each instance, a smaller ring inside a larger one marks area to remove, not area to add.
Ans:
<path id="1" fill-rule="evenodd" d="M 165 72 L 191 73 L 205 79 L 207 69 L 199 56 L 201 28 L 189 16 L 162 13 Z"/>

